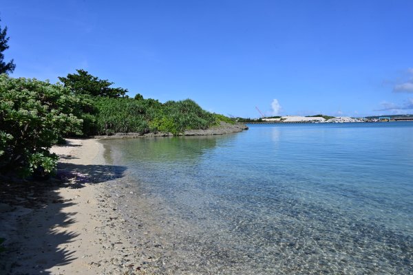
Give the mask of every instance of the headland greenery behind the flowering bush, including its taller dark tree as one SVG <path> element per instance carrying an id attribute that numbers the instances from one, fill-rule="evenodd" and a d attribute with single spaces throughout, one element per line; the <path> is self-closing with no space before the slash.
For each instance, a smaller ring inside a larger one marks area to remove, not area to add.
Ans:
<path id="1" fill-rule="evenodd" d="M 193 100 L 162 104 L 140 94 L 129 98 L 125 96 L 127 89 L 110 88 L 113 83 L 100 80 L 83 69 L 77 72 L 59 79 L 83 101 L 93 102 L 92 108 L 81 110 L 84 135 L 149 132 L 178 135 L 188 129 L 207 129 L 219 121 L 233 123 L 224 115 L 204 111 Z"/>

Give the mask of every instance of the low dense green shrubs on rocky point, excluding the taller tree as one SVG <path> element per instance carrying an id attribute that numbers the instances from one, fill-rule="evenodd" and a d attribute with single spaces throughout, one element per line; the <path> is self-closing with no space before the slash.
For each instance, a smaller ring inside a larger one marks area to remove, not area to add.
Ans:
<path id="1" fill-rule="evenodd" d="M 91 135 L 149 132 L 178 135 L 188 129 L 207 129 L 221 118 L 189 99 L 162 104 L 151 98 L 95 98 L 95 103 L 96 133 Z"/>

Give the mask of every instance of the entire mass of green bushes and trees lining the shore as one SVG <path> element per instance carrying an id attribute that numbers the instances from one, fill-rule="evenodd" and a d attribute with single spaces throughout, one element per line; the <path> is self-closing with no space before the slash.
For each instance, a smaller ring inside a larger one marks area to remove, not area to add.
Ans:
<path id="1" fill-rule="evenodd" d="M 0 75 L 0 173 L 46 175 L 56 168 L 50 147 L 65 136 L 162 132 L 179 135 L 207 129 L 224 115 L 204 111 L 193 100 L 168 101 L 125 96 L 83 70 L 61 84 Z"/>

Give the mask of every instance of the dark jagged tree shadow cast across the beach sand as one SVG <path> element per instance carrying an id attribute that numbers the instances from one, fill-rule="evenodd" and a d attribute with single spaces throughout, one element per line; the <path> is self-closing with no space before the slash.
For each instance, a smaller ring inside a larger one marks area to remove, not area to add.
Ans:
<path id="1" fill-rule="evenodd" d="M 6 239 L 0 274 L 52 274 L 51 267 L 74 261 L 74 251 L 64 247 L 79 234 L 61 230 L 76 223 L 76 212 L 63 211 L 74 202 L 63 199 L 59 188 L 118 179 L 125 167 L 59 164 L 58 172 L 49 181 L 0 179 L 0 238 Z"/>

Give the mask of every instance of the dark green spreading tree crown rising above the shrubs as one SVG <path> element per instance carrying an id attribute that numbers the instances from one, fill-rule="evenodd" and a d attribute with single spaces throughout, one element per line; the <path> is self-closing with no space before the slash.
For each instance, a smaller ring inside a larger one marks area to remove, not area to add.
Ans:
<path id="1" fill-rule="evenodd" d="M 99 79 L 83 69 L 77 69 L 76 71 L 77 74 L 67 74 L 66 77 L 59 77 L 63 85 L 68 87 L 74 94 L 119 98 L 127 93 L 127 89 L 109 87 L 114 84 L 109 80 Z"/>

